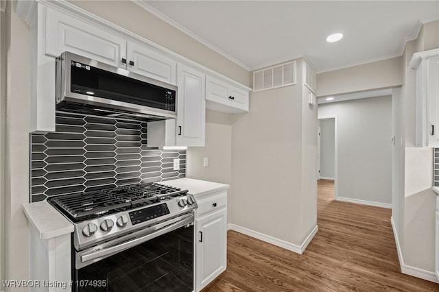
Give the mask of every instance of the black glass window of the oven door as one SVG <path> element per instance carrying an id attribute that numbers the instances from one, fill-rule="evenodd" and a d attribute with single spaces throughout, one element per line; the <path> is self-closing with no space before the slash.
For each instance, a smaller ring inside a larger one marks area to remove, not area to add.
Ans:
<path id="1" fill-rule="evenodd" d="M 76 291 L 193 291 L 193 224 L 75 270 Z"/>

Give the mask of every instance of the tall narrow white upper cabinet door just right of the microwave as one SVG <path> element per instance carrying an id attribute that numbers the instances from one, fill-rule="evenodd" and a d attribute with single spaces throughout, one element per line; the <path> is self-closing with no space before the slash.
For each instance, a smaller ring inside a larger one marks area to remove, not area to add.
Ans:
<path id="1" fill-rule="evenodd" d="M 177 79 L 176 144 L 178 146 L 204 146 L 206 127 L 205 76 L 191 67 L 178 64 Z"/>

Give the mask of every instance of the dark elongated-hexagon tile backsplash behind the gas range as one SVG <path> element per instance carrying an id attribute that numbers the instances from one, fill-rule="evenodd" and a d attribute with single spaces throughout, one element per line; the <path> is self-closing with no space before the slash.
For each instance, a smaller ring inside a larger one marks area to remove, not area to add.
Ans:
<path id="1" fill-rule="evenodd" d="M 146 141 L 142 121 L 57 112 L 56 132 L 31 134 L 31 202 L 185 178 L 186 150 L 147 147 Z M 180 158 L 178 171 L 174 158 Z"/>

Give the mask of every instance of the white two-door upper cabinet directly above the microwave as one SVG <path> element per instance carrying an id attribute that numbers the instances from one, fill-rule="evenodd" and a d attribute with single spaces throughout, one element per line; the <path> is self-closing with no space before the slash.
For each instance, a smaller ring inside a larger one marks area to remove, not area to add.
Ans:
<path id="1" fill-rule="evenodd" d="M 46 54 L 58 57 L 64 51 L 71 51 L 176 84 L 176 60 L 51 8 L 47 8 L 46 15 Z"/>

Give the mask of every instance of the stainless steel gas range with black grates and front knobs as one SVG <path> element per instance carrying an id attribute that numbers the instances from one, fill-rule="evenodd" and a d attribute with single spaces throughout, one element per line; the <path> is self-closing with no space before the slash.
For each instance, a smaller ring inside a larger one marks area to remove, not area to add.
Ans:
<path id="1" fill-rule="evenodd" d="M 47 199 L 75 225 L 73 291 L 193 291 L 193 195 L 132 184 Z"/>

